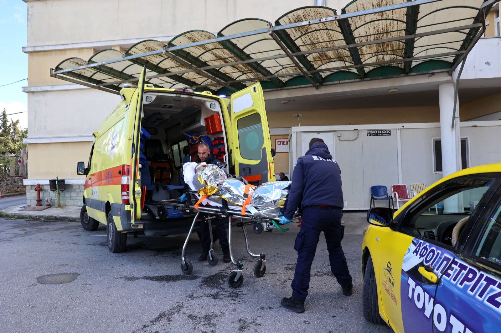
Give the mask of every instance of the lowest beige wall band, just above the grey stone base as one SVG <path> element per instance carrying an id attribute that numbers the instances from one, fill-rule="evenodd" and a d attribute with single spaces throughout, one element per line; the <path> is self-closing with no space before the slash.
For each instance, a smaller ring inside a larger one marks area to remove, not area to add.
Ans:
<path id="1" fill-rule="evenodd" d="M 77 163 L 87 165 L 92 142 L 32 143 L 28 146 L 29 179 L 76 179 Z"/>

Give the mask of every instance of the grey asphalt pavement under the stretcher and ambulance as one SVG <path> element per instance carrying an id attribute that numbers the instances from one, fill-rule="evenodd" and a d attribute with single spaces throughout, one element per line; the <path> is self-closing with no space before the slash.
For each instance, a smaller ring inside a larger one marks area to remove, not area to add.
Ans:
<path id="1" fill-rule="evenodd" d="M 297 314 L 280 305 L 291 295 L 296 225 L 288 232 L 249 232 L 250 249 L 267 253 L 261 278 L 252 272 L 255 260 L 246 254 L 241 229 L 232 228 L 234 255 L 244 263 L 243 285 L 235 289 L 226 282 L 231 264 L 197 261 L 196 235 L 186 252 L 193 273 L 184 275 L 180 256 L 186 235 L 129 235 L 126 251 L 113 254 L 104 225 L 88 232 L 76 222 L 0 218 L 0 327 L 4 332 L 389 332 L 362 314 L 365 213 L 346 213 L 343 220 L 353 295 L 343 296 L 321 236 L 306 312 Z M 218 245 L 215 251 L 222 259 Z"/>

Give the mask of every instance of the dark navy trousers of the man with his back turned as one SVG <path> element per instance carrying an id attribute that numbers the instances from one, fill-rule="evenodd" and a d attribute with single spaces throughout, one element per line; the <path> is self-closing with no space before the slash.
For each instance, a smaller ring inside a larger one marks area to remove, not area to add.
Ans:
<path id="1" fill-rule="evenodd" d="M 343 213 L 340 209 L 305 208 L 303 212 L 301 231 L 294 244 L 294 249 L 298 251 L 298 263 L 291 285 L 294 297 L 302 302 L 308 296 L 310 271 L 322 231 L 329 251 L 332 273 L 343 287 L 349 286 L 352 282 L 346 257 L 341 247 L 341 217 L 343 217 Z"/>

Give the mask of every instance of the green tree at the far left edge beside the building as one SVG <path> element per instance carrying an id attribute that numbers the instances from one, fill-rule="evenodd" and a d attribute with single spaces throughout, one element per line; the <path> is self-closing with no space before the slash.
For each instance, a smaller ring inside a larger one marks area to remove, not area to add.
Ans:
<path id="1" fill-rule="evenodd" d="M 26 148 L 23 138 L 28 136 L 28 128 L 19 126 L 19 120 L 11 120 L 7 116 L 4 108 L 0 115 L 0 176 L 9 176 L 11 157 L 21 154 L 21 150 Z"/>

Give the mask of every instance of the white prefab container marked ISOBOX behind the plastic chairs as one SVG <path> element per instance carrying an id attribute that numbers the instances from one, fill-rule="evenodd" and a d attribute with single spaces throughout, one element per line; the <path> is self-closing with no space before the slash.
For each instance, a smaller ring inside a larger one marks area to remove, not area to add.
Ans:
<path id="1" fill-rule="evenodd" d="M 501 121 L 460 122 L 463 168 L 501 161 Z M 292 127 L 290 174 L 314 137 L 322 138 L 341 168 L 345 210 L 367 210 L 370 188 L 413 183 L 427 186 L 442 178 L 440 123 Z M 376 201 L 387 206 L 388 201 Z M 470 198 L 463 198 L 470 207 Z M 395 202 L 396 207 L 396 202 Z"/>

